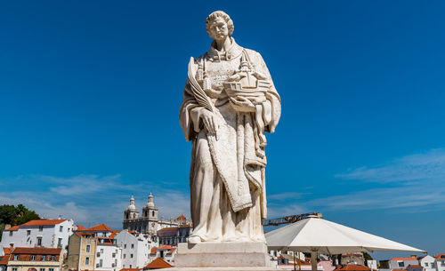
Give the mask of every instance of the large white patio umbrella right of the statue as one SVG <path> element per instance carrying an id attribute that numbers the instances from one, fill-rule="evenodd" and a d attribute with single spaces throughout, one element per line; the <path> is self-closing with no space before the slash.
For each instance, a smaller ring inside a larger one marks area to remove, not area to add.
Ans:
<path id="1" fill-rule="evenodd" d="M 331 255 L 358 251 L 425 252 L 317 216 L 279 227 L 266 234 L 266 241 L 270 250 L 311 252 L 312 271 L 317 270 L 317 252 Z"/>

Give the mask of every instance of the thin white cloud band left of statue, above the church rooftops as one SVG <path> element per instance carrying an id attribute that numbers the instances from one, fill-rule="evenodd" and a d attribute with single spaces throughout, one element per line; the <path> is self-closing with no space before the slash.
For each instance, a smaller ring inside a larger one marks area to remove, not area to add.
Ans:
<path id="1" fill-rule="evenodd" d="M 1 189 L 11 183 L 17 185 Z M 29 175 L 0 179 L 0 204 L 23 203 L 47 219 L 61 216 L 85 227 L 105 223 L 119 229 L 130 196 L 135 196 L 137 207 L 142 209 L 150 191 L 156 191 L 155 204 L 166 219 L 181 214 L 189 216 L 189 197 L 185 193 L 158 187 L 156 182 L 125 184 L 120 175 L 81 174 L 67 178 Z"/>

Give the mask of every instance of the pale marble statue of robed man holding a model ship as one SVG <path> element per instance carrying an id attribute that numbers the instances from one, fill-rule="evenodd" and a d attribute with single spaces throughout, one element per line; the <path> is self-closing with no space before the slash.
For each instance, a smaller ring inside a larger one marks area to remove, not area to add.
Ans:
<path id="1" fill-rule="evenodd" d="M 192 142 L 189 243 L 265 242 L 265 132 L 281 105 L 262 56 L 239 46 L 225 12 L 206 19 L 210 50 L 190 58 L 180 123 Z"/>

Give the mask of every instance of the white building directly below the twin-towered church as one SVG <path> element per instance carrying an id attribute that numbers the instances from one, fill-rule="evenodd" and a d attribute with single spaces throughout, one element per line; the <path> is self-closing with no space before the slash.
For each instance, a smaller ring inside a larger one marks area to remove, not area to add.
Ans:
<path id="1" fill-rule="evenodd" d="M 124 229 L 115 239 L 122 249 L 122 268 L 142 268 L 150 262 L 151 248 L 158 246 L 152 243 L 150 235 L 129 232 Z"/>

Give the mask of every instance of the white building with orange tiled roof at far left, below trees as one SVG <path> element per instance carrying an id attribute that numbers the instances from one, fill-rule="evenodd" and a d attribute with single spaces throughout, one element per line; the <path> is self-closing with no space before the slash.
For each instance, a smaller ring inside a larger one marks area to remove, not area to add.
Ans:
<path id="1" fill-rule="evenodd" d="M 6 247 L 63 248 L 66 252 L 74 222 L 67 219 L 31 220 L 20 226 L 5 229 L 0 249 Z"/>

